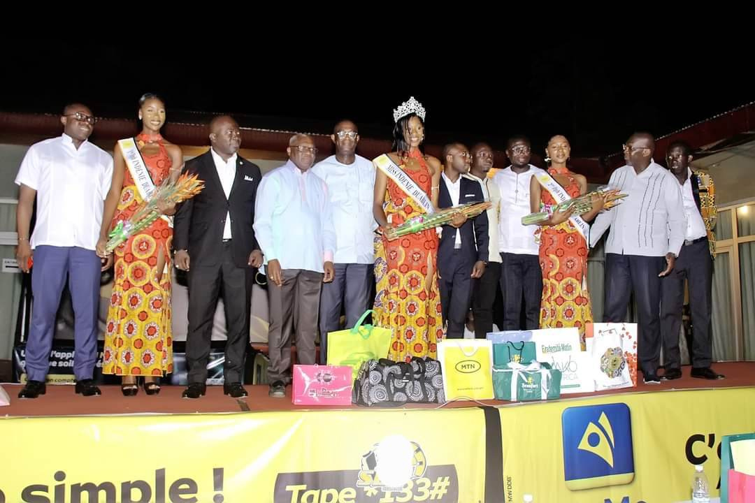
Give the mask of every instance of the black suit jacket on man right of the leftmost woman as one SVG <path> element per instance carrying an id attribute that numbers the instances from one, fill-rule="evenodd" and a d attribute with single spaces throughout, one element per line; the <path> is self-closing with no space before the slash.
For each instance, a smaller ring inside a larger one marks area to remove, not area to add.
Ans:
<path id="1" fill-rule="evenodd" d="M 188 250 L 192 267 L 217 265 L 222 260 L 223 228 L 230 213 L 233 262 L 237 267 L 250 267 L 249 254 L 259 249 L 252 225 L 257 186 L 262 179 L 260 168 L 237 156 L 236 177 L 228 198 L 210 151 L 187 161 L 183 172 L 196 173 L 204 180 L 205 189 L 178 207 L 174 250 Z"/>

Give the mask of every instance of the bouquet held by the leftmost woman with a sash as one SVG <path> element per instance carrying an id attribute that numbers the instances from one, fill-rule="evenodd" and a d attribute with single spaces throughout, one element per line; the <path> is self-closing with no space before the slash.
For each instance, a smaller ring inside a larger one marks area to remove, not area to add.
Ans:
<path id="1" fill-rule="evenodd" d="M 108 235 L 109 240 L 105 246 L 107 253 L 111 253 L 126 241 L 129 237 L 146 228 L 162 214 L 158 203 L 176 204 L 186 199 L 193 198 L 202 192 L 205 182 L 197 179 L 196 175 L 183 173 L 175 182 L 165 179 L 165 182 L 155 189 L 152 197 L 143 201 L 134 214 L 127 221 L 119 221 L 116 228 Z"/>

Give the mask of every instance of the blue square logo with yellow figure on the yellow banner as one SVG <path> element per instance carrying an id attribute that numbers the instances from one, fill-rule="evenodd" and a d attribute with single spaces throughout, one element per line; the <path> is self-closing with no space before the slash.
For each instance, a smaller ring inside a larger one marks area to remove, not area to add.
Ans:
<path id="1" fill-rule="evenodd" d="M 572 491 L 634 479 L 632 423 L 626 403 L 569 407 L 561 416 L 564 480 Z"/>

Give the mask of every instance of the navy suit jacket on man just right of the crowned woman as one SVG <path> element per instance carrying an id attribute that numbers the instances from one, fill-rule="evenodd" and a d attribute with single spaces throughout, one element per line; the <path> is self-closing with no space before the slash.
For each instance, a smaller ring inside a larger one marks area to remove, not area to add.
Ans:
<path id="1" fill-rule="evenodd" d="M 454 204 L 451 202 L 451 195 L 445 186 L 445 180 L 440 180 L 438 193 L 438 207 L 448 208 Z M 481 203 L 485 201 L 482 195 L 482 187 L 479 183 L 468 178 L 461 177 L 461 187 L 459 190 L 459 204 Z M 461 253 L 464 260 L 474 264 L 478 260 L 488 262 L 488 214 L 483 211 L 473 219 L 467 219 L 464 225 L 459 228 L 461 234 Z M 451 225 L 443 225 L 440 235 L 440 244 L 438 247 L 438 271 L 441 277 L 449 276 L 451 271 L 447 270 L 451 263 L 450 257 L 454 253 L 456 243 L 456 229 Z"/>

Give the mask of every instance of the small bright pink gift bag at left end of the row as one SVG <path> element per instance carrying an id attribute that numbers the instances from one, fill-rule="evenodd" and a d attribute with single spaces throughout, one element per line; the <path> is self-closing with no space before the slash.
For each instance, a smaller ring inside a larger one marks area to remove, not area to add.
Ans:
<path id="1" fill-rule="evenodd" d="M 292 373 L 296 405 L 351 405 L 351 367 L 294 365 Z"/>

